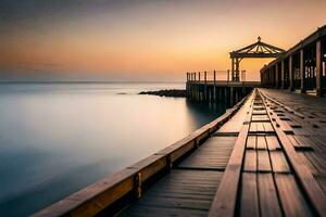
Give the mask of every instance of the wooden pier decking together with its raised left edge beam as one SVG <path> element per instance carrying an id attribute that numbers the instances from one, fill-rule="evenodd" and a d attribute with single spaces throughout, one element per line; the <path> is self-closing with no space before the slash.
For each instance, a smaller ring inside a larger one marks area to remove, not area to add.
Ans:
<path id="1" fill-rule="evenodd" d="M 187 138 L 35 216 L 323 216 L 325 107 L 254 89 Z"/>

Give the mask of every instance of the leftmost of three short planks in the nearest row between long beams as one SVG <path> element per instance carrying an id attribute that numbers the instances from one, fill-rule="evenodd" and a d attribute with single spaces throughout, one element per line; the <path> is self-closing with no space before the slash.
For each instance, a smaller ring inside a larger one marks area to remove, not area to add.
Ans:
<path id="1" fill-rule="evenodd" d="M 240 216 L 259 216 L 256 174 L 242 173 Z"/>

